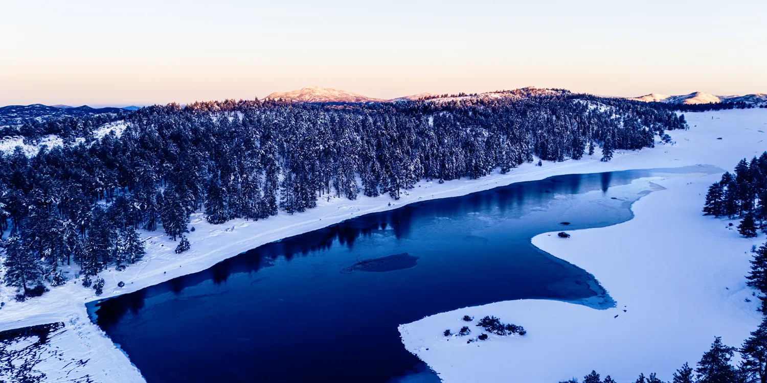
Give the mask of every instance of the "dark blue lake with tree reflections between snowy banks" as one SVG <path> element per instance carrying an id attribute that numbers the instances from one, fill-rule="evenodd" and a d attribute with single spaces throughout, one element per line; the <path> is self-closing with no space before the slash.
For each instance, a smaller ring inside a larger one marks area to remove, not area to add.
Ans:
<path id="1" fill-rule="evenodd" d="M 668 172 L 563 175 L 419 202 L 89 306 L 150 383 L 390 381 L 423 370 L 400 342 L 402 323 L 526 298 L 610 306 L 591 274 L 530 239 L 627 221 L 651 188 L 630 182 Z"/>

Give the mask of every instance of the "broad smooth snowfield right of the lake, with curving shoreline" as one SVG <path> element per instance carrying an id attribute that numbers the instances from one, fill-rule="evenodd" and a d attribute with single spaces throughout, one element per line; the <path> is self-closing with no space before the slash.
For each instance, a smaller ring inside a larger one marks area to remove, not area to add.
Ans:
<path id="1" fill-rule="evenodd" d="M 668 157 L 667 165 L 697 162 L 732 169 L 739 159 L 767 149 L 762 142 L 767 111 L 686 117 L 692 129 L 676 133 L 677 146 L 663 153 L 684 154 Z M 658 166 L 658 160 L 653 155 L 637 165 Z M 634 381 L 640 372 L 657 372 L 670 381 L 684 362 L 694 365 L 700 359 L 714 336 L 740 345 L 761 321 L 744 276 L 752 244 L 763 243 L 765 236 L 749 240 L 729 221 L 702 215 L 706 190 L 718 180 L 718 174 L 656 180 L 665 189 L 635 202 L 630 221 L 571 231 L 567 239 L 556 233 L 532 239 L 594 274 L 617 307 L 597 310 L 552 300 L 491 303 L 400 326 L 404 345 L 446 382 L 551 383 L 581 378 L 592 369 L 619 382 Z M 470 344 L 447 341 L 442 332 L 464 326 L 464 315 L 497 316 L 528 333 L 490 335 Z"/>

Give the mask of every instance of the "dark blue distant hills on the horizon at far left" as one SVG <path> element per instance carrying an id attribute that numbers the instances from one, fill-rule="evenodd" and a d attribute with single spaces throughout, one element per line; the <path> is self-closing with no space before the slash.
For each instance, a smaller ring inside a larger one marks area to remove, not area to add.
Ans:
<path id="1" fill-rule="evenodd" d="M 25 119 L 38 119 L 44 121 L 55 117 L 79 117 L 87 114 L 100 113 L 130 113 L 123 108 L 91 108 L 91 106 L 48 106 L 41 103 L 31 105 L 9 105 L 0 107 L 0 126 L 18 125 Z"/>

